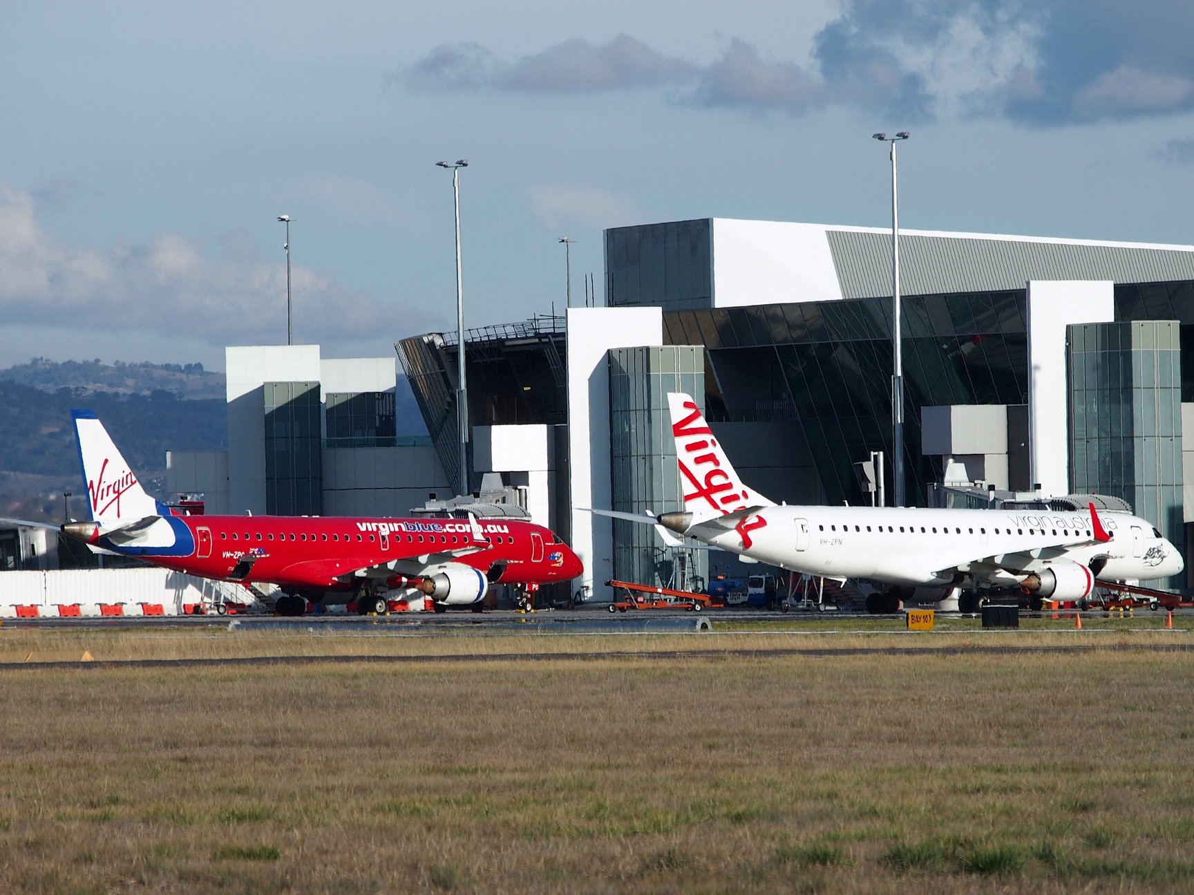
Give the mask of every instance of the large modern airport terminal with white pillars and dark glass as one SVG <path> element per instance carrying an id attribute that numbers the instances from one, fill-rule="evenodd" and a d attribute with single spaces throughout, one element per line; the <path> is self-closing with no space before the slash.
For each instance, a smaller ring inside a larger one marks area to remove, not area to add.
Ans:
<path id="1" fill-rule="evenodd" d="M 903 231 L 900 258 L 903 445 L 890 231 L 671 221 L 605 232 L 604 307 L 467 332 L 470 489 L 512 489 L 592 600 L 609 578 L 698 586 L 724 554 L 586 511 L 679 509 L 666 393 L 683 391 L 776 502 L 869 503 L 855 464 L 881 452 L 890 483 L 900 450 L 909 503 L 1100 494 L 1194 542 L 1194 247 Z M 427 436 L 394 434 L 394 358 L 229 348 L 229 449 L 172 454 L 171 490 L 325 515 L 451 496 L 461 345 L 395 348 Z"/>

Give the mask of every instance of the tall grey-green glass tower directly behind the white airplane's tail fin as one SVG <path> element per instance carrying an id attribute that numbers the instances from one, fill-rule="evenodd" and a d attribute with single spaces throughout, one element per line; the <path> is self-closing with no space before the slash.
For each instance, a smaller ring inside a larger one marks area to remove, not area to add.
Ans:
<path id="1" fill-rule="evenodd" d="M 691 394 L 703 409 L 702 347 L 610 350 L 610 480 L 620 513 L 684 509 L 667 392 Z M 667 547 L 653 527 L 615 519 L 614 577 L 693 589 L 708 577 L 708 551 Z"/>

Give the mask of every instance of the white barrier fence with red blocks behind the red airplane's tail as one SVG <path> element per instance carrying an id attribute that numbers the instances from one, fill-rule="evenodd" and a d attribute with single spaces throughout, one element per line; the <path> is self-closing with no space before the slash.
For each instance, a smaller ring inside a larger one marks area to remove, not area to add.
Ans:
<path id="1" fill-rule="evenodd" d="M 181 615 L 221 599 L 253 602 L 240 586 L 168 569 L 0 572 L 0 618 Z"/>

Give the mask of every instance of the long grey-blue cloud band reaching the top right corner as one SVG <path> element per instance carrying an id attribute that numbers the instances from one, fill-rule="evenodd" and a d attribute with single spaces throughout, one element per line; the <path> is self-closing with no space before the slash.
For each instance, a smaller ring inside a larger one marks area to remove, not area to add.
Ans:
<path id="1" fill-rule="evenodd" d="M 1194 108 L 1194 49 L 1182 37 L 1194 6 L 1140 2 L 841 0 L 800 62 L 733 37 L 720 57 L 694 63 L 618 35 L 516 61 L 439 47 L 404 76 L 439 90 L 672 88 L 669 100 L 697 106 L 805 115 L 833 105 L 905 123 L 998 115 L 1060 124 Z"/>

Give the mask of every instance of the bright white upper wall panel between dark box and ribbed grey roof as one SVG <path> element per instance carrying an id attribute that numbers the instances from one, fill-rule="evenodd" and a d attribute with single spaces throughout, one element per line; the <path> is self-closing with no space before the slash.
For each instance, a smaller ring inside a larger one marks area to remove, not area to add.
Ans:
<path id="1" fill-rule="evenodd" d="M 825 229 L 820 223 L 713 219 L 713 306 L 841 300 Z"/>

